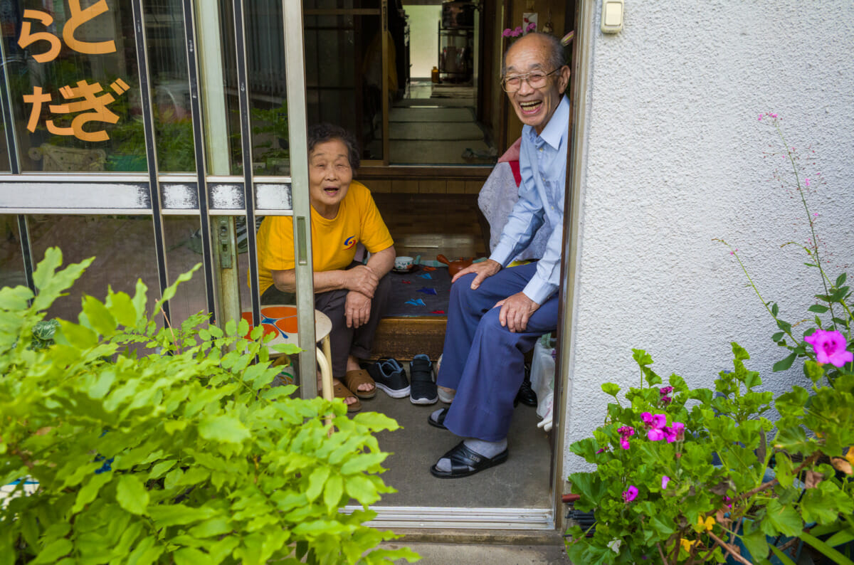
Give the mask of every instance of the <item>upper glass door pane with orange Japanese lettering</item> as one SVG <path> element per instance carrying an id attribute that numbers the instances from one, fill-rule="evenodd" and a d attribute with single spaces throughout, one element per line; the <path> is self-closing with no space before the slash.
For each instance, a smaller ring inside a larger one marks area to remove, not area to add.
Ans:
<path id="1" fill-rule="evenodd" d="M 130 135 L 139 113 L 130 6 L 4 4 L 21 170 L 136 170 L 139 155 L 144 168 L 144 151 Z"/>

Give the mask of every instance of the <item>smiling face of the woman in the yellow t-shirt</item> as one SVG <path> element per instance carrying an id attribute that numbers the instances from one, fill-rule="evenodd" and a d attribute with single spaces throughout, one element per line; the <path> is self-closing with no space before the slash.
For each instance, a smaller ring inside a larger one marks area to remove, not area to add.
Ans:
<path id="1" fill-rule="evenodd" d="M 308 193 L 312 207 L 325 218 L 335 218 L 347 195 L 353 169 L 347 145 L 340 139 L 318 143 L 308 154 Z"/>

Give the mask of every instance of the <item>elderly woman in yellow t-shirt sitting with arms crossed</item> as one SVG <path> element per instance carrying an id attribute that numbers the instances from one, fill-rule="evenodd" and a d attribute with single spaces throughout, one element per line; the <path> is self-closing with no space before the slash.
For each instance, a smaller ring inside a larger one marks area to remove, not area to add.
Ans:
<path id="1" fill-rule="evenodd" d="M 330 124 L 308 129 L 314 307 L 332 321 L 335 396 L 348 411 L 359 411 L 359 398 L 377 393 L 359 360 L 371 354 L 395 265 L 394 242 L 371 191 L 353 180 L 358 167 L 359 150 L 348 131 Z M 357 243 L 371 253 L 364 265 L 354 260 Z M 264 218 L 258 231 L 261 304 L 295 303 L 294 266 L 293 218 Z"/>

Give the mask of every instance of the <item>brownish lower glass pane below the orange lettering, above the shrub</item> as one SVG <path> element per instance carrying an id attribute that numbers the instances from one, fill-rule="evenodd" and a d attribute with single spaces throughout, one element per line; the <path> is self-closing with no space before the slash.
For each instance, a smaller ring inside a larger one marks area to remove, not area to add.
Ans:
<path id="1" fill-rule="evenodd" d="M 43 216 L 28 217 L 32 260 L 44 259 L 50 247 L 62 250 L 62 265 L 95 260 L 68 291 L 56 300 L 49 317 L 77 320 L 84 294 L 104 300 L 107 288 L 136 293 L 137 279 L 148 290 L 148 312 L 160 297 L 157 259 L 150 216 Z"/>

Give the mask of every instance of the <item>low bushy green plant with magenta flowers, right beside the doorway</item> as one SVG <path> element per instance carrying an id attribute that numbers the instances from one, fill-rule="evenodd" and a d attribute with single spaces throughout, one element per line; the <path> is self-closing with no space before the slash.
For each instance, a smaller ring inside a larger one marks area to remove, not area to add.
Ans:
<path id="1" fill-rule="evenodd" d="M 691 390 L 677 375 L 656 387 L 662 379 L 639 349 L 641 387 L 625 393 L 628 405 L 620 387 L 602 385 L 615 399 L 605 425 L 570 446 L 596 465 L 570 475 L 581 495 L 576 508 L 596 518 L 592 537 L 570 528 L 573 562 L 723 562 L 737 553 L 736 538 L 755 537 L 736 531 L 744 518 L 762 519 L 770 460 L 764 439 L 772 426 L 761 414 L 772 395 L 754 390 L 761 378 L 746 369 L 747 352 L 736 343 L 732 349 L 734 370 L 721 372 L 715 391 Z"/>

